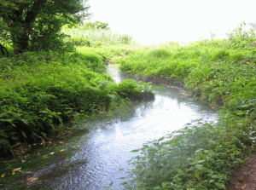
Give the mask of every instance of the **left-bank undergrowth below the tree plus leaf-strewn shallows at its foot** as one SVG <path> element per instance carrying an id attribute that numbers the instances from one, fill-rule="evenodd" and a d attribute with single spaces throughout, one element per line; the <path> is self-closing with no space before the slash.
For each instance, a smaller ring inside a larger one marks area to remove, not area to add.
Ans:
<path id="1" fill-rule="evenodd" d="M 132 102 L 154 99 L 148 83 L 131 79 L 114 83 L 108 75 L 106 63 L 128 55 L 131 47 L 126 44 L 20 55 L 6 47 L 9 57 L 0 57 L 0 173 L 4 188 L 27 187 L 26 172 L 42 169 L 49 160 L 73 152 L 75 145 L 67 146 L 72 143 L 65 136 L 82 131 L 76 127 L 79 121 L 86 125 L 93 118 L 122 118 L 125 116 L 120 113 L 134 112 Z M 8 155 L 11 157 L 5 158 Z"/>

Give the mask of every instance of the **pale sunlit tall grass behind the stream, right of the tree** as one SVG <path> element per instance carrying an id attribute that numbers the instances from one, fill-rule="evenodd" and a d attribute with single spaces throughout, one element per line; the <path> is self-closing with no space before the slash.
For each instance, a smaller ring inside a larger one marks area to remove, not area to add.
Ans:
<path id="1" fill-rule="evenodd" d="M 67 42 L 74 43 L 80 53 L 90 52 L 102 56 L 106 63 L 119 63 L 119 57 L 129 55 L 142 47 L 131 36 L 113 33 L 107 29 L 83 29 L 63 27 L 69 35 Z"/>

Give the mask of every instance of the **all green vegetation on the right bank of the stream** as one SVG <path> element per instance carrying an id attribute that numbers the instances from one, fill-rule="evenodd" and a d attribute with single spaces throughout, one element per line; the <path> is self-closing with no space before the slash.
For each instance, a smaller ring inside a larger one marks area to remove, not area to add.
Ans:
<path id="1" fill-rule="evenodd" d="M 119 59 L 122 72 L 144 80 L 182 84 L 218 107 L 217 124 L 191 123 L 148 142 L 130 162 L 127 189 L 225 189 L 230 168 L 254 151 L 255 33 L 241 27 L 227 39 L 180 46 L 166 43 Z"/>

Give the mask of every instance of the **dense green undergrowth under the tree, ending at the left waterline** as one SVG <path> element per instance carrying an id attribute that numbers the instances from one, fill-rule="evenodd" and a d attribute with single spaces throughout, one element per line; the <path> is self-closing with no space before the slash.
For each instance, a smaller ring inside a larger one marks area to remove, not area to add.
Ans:
<path id="1" fill-rule="evenodd" d="M 113 101 L 154 98 L 148 85 L 116 84 L 93 52 L 27 52 L 0 59 L 1 153 L 45 140 L 58 125 L 108 111 Z"/>

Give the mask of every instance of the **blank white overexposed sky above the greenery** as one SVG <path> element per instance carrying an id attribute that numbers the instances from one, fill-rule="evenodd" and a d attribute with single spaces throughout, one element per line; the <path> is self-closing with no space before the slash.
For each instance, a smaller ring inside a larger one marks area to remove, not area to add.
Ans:
<path id="1" fill-rule="evenodd" d="M 217 38 L 242 21 L 256 22 L 255 0 L 89 0 L 91 21 L 139 43 L 190 42 Z"/>

